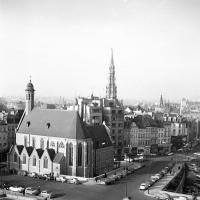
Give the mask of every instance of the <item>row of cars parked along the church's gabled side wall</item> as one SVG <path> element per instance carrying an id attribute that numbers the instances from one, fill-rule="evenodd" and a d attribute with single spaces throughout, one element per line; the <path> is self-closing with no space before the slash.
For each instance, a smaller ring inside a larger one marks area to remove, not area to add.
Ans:
<path id="1" fill-rule="evenodd" d="M 81 182 L 77 178 L 66 178 L 65 176 L 52 176 L 51 174 L 37 174 L 35 172 L 28 173 L 26 171 L 19 172 L 18 174 L 23 176 L 29 176 L 32 178 L 39 178 L 42 180 L 54 180 L 62 183 L 80 184 Z"/>

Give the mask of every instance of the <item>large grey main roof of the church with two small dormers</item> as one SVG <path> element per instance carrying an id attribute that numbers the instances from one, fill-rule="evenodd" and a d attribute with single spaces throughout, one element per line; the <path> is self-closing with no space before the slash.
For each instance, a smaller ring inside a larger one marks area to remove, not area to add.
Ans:
<path id="1" fill-rule="evenodd" d="M 24 116 L 18 133 L 86 139 L 78 112 L 57 109 L 33 109 Z"/>

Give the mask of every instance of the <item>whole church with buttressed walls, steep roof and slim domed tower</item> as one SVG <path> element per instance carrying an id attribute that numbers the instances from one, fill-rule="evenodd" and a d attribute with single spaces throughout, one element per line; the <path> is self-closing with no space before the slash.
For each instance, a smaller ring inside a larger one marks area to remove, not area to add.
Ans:
<path id="1" fill-rule="evenodd" d="M 35 108 L 31 81 L 25 91 L 26 109 L 8 155 L 10 169 L 80 177 L 113 169 L 114 150 L 104 125 L 86 125 L 78 111 Z"/>

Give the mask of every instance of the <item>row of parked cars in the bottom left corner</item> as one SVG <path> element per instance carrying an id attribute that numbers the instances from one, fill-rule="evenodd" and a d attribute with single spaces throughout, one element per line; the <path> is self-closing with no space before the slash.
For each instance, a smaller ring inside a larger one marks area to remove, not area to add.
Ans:
<path id="1" fill-rule="evenodd" d="M 2 183 L 0 186 L 1 189 L 5 189 L 7 191 L 15 192 L 15 193 L 23 193 L 23 195 L 34 195 L 40 196 L 44 198 L 52 198 L 53 194 L 47 190 L 40 190 L 40 187 L 24 187 L 19 185 L 10 185 L 8 183 Z"/>

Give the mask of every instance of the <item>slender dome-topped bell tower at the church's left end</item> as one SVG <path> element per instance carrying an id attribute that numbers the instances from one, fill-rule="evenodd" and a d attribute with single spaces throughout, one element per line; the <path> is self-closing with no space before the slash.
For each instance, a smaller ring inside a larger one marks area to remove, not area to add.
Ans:
<path id="1" fill-rule="evenodd" d="M 34 108 L 34 86 L 30 82 L 26 85 L 26 115 L 28 115 Z"/>

